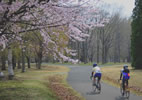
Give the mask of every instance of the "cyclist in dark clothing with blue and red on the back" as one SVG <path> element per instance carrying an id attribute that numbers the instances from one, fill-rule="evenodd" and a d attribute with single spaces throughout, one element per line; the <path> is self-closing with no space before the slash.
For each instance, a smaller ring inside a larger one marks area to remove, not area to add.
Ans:
<path id="1" fill-rule="evenodd" d="M 128 69 L 128 65 L 124 65 L 120 74 L 120 80 L 122 79 L 122 87 L 124 91 L 125 91 L 125 84 L 128 87 L 128 80 L 130 79 L 129 73 L 130 71 Z M 123 95 L 124 95 L 124 92 L 123 92 Z"/>

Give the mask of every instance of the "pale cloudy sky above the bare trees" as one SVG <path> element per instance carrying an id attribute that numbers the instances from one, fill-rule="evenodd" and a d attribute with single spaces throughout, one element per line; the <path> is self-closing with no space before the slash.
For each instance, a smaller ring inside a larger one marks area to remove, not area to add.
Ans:
<path id="1" fill-rule="evenodd" d="M 97 0 L 71 0 L 74 3 L 78 1 L 90 1 L 92 4 Z M 131 17 L 133 8 L 135 7 L 135 0 L 98 0 L 100 1 L 97 6 L 101 5 L 101 8 L 109 11 L 110 13 L 120 12 L 122 17 Z"/>

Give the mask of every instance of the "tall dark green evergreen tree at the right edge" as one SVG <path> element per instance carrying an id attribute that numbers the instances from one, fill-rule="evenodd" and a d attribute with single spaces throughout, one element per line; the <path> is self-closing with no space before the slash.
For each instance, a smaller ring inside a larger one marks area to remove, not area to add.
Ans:
<path id="1" fill-rule="evenodd" d="M 132 66 L 135 69 L 142 69 L 142 0 L 135 0 L 132 18 Z"/>

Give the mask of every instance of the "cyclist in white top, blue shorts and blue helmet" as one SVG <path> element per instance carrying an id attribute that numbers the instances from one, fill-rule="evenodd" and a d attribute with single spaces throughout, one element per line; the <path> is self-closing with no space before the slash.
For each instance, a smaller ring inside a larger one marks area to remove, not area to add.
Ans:
<path id="1" fill-rule="evenodd" d="M 96 80 L 95 80 L 96 77 L 98 78 L 98 82 L 100 82 L 101 76 L 102 76 L 102 73 L 101 73 L 100 67 L 96 63 L 93 64 L 93 69 L 91 73 L 91 78 L 93 77 L 93 85 L 96 86 Z"/>

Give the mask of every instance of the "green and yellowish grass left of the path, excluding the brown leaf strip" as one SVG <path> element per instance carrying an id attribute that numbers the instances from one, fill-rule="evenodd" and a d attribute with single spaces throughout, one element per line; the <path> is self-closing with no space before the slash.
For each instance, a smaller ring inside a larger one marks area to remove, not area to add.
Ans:
<path id="1" fill-rule="evenodd" d="M 14 80 L 0 81 L 0 100 L 57 100 L 48 87 L 48 77 L 67 70 L 50 66 L 41 70 L 31 68 L 25 73 L 16 70 Z"/>

